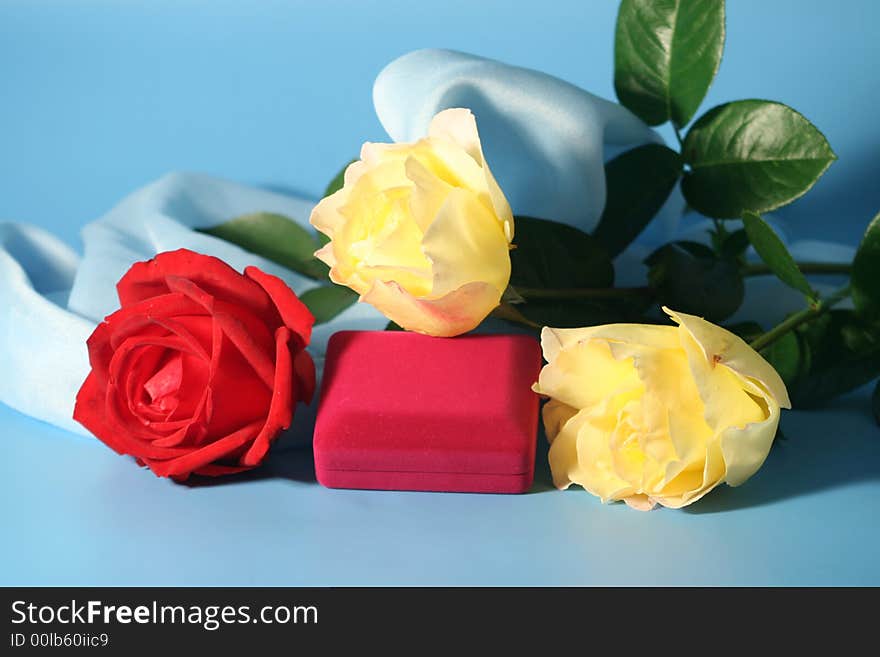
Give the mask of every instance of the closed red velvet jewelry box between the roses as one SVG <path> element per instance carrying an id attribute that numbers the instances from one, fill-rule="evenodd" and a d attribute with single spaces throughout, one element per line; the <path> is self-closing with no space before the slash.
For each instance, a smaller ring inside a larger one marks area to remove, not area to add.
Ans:
<path id="1" fill-rule="evenodd" d="M 328 488 L 523 493 L 532 485 L 541 349 L 525 335 L 330 338 L 315 424 Z"/>

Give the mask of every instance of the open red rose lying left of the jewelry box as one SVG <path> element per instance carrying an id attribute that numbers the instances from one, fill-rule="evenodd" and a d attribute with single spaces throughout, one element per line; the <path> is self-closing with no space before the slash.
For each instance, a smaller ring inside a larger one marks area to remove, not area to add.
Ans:
<path id="1" fill-rule="evenodd" d="M 136 263 L 116 289 L 74 419 L 161 477 L 259 465 L 315 388 L 309 309 L 275 276 L 184 249 Z"/>

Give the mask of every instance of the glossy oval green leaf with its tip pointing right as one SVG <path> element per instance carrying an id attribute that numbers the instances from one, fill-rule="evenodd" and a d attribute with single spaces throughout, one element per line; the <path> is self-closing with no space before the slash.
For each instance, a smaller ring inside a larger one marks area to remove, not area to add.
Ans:
<path id="1" fill-rule="evenodd" d="M 739 100 L 701 116 L 684 139 L 688 204 L 709 217 L 769 212 L 809 190 L 837 159 L 801 114 L 766 100 Z"/>

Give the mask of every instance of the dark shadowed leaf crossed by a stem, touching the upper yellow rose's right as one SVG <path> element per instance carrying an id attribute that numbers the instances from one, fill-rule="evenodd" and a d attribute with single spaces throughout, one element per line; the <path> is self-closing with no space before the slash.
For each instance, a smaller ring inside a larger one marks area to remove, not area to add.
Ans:
<path id="1" fill-rule="evenodd" d="M 514 290 L 608 288 L 614 267 L 594 237 L 566 224 L 516 217 L 516 248 L 510 252 Z M 543 326 L 587 326 L 612 321 L 607 303 L 581 299 L 530 299 L 515 310 Z M 619 316 L 619 315 L 618 315 Z"/>

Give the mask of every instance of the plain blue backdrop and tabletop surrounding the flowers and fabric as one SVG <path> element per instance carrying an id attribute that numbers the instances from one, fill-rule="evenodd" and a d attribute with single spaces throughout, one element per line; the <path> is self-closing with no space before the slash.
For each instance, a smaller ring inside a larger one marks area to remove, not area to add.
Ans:
<path id="1" fill-rule="evenodd" d="M 317 196 L 365 139 L 408 50 L 540 68 L 613 97 L 616 3 L 0 4 L 0 218 L 77 231 L 169 170 Z M 880 209 L 880 5 L 737 0 L 707 106 L 791 104 L 840 162 L 785 211 L 854 243 Z M 14 376 L 14 373 L 3 373 Z M 2 584 L 880 584 L 880 429 L 867 391 L 783 416 L 739 489 L 650 514 L 559 493 L 328 491 L 280 444 L 258 474 L 159 480 L 0 406 Z M 543 452 L 539 463 L 544 463 Z M 546 467 L 546 466 L 544 466 Z"/>

